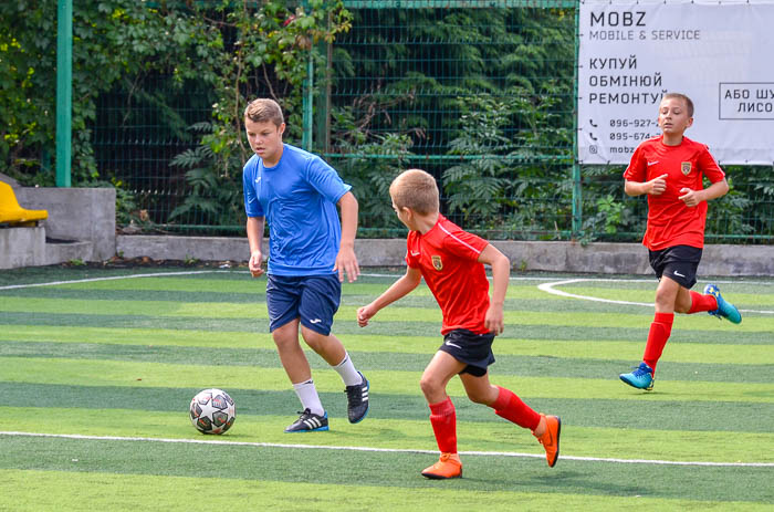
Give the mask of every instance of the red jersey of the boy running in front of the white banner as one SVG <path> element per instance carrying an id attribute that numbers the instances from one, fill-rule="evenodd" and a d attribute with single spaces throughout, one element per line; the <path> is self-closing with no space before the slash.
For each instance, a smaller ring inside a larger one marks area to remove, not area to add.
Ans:
<path id="1" fill-rule="evenodd" d="M 667 189 L 660 196 L 648 195 L 648 227 L 642 244 L 651 251 L 674 245 L 704 247 L 707 201 L 689 208 L 678 197 L 680 189 L 704 188 L 702 178 L 713 184 L 725 178 L 704 144 L 682 137 L 679 146 L 666 146 L 663 135 L 640 144 L 624 173 L 630 181 L 645 182 L 667 176 Z"/>

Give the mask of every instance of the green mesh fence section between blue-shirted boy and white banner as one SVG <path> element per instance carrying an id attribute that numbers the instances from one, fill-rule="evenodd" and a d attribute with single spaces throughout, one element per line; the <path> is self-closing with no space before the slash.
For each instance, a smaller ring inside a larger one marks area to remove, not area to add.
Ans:
<path id="1" fill-rule="evenodd" d="M 468 229 L 568 237 L 575 18 L 567 3 L 347 3 L 355 20 L 336 41 L 331 87 L 332 105 L 347 117 L 334 121 L 326 155 L 362 184 L 365 234 L 397 234 L 379 185 L 419 167 L 441 185 L 443 212 Z M 358 145 L 348 143 L 353 130 Z"/>

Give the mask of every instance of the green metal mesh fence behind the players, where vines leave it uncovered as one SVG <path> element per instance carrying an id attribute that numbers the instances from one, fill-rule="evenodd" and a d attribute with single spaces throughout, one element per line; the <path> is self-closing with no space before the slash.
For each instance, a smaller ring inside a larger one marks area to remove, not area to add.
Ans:
<path id="1" fill-rule="evenodd" d="M 491 239 L 640 239 L 646 205 L 624 195 L 623 168 L 579 166 L 575 158 L 575 0 L 345 4 L 353 28 L 330 48 L 313 49 L 327 55 L 326 64 L 306 104 L 313 112 L 301 117 L 313 121 L 313 139 L 304 142 L 354 186 L 359 236 L 405 234 L 387 187 L 401 170 L 419 167 L 438 179 L 443 213 Z M 208 92 L 184 94 L 163 74 L 143 83 L 142 91 L 117 87 L 100 98 L 101 174 L 121 184 L 127 194 L 119 200 L 146 227 L 243 232 L 238 200 L 226 224 L 179 211 L 194 185 L 170 161 L 196 147 L 188 127 L 210 118 Z M 773 169 L 726 170 L 733 191 L 711 205 L 708 239 L 771 243 Z"/>

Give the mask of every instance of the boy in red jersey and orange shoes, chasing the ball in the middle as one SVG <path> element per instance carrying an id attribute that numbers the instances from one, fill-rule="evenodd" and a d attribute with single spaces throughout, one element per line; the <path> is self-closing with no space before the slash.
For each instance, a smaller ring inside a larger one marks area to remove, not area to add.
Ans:
<path id="1" fill-rule="evenodd" d="M 520 427 L 529 428 L 543 445 L 548 466 L 559 454 L 562 421 L 538 415 L 511 390 L 489 383 L 487 367 L 494 363 L 492 342 L 503 332 L 503 304 L 511 263 L 485 240 L 468 233 L 438 210 L 438 186 L 432 176 L 409 169 L 389 188 L 398 219 L 410 230 L 407 239 L 406 274 L 370 304 L 357 310 L 360 327 L 383 307 L 425 282 L 443 313 L 443 344 L 425 368 L 420 387 L 430 406 L 430 422 L 441 456 L 422 471 L 430 479 L 458 478 L 462 463 L 457 452 L 457 416 L 446 393 L 459 375 L 468 397 L 494 409 Z M 492 268 L 493 291 L 483 264 Z"/>

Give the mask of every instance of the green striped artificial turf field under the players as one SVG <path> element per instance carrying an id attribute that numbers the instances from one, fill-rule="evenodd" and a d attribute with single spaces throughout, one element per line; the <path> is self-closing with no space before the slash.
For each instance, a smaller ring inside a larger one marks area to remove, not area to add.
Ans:
<path id="1" fill-rule="evenodd" d="M 678 315 L 645 393 L 618 374 L 640 361 L 655 280 L 514 278 L 490 377 L 562 417 L 562 457 L 547 468 L 529 431 L 453 379 L 464 478 L 439 482 L 419 476 L 437 448 L 418 385 L 441 342 L 438 306 L 421 286 L 366 328 L 355 322 L 395 279 L 345 284 L 334 325 L 370 380 L 366 420 L 347 422 L 344 385 L 310 353 L 331 431 L 285 435 L 299 403 L 263 279 L 0 273 L 0 511 L 771 510 L 774 281 L 720 281 L 741 325 Z M 188 420 L 207 387 L 237 401 L 224 436 Z"/>

